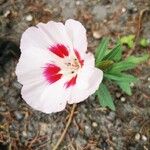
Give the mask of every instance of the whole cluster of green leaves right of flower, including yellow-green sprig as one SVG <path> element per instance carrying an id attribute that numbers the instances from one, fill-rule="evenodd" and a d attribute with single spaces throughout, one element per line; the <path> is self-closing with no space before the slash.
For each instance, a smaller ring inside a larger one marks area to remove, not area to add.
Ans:
<path id="1" fill-rule="evenodd" d="M 98 46 L 95 54 L 96 67 L 100 68 L 104 72 L 104 81 L 109 80 L 118 85 L 123 92 L 131 95 L 131 83 L 139 81 L 133 75 L 125 73 L 129 69 L 135 68 L 140 63 L 147 61 L 150 58 L 149 54 L 143 56 L 130 56 L 126 59 L 122 58 L 121 43 L 129 42 L 130 47 L 133 46 L 134 36 L 126 36 L 122 38 L 121 42 L 117 42 L 116 46 L 108 50 L 108 39 L 103 39 Z M 131 42 L 132 41 L 132 42 Z M 127 43 L 126 43 L 127 44 Z M 100 52 L 101 51 L 101 52 Z M 97 56 L 98 55 L 98 56 Z M 102 55 L 102 56 L 100 56 Z M 115 110 L 112 97 L 104 83 L 102 83 L 99 89 L 95 93 L 98 96 L 99 102 L 102 107 L 109 107 Z"/>

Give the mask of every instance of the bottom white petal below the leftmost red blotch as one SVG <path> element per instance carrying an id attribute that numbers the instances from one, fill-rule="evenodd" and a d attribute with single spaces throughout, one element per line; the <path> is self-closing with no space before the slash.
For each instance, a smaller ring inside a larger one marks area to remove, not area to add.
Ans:
<path id="1" fill-rule="evenodd" d="M 60 80 L 48 85 L 37 81 L 24 85 L 22 97 L 31 107 L 44 113 L 62 111 L 69 97 L 69 91 L 64 89 L 63 82 Z"/>

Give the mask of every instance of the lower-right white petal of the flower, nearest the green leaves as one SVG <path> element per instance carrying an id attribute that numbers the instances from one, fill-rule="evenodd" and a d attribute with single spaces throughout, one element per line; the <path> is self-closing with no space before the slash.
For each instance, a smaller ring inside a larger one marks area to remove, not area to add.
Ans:
<path id="1" fill-rule="evenodd" d="M 90 73 L 90 75 L 88 73 Z M 78 76 L 80 76 L 80 74 Z M 92 68 L 88 69 L 87 74 L 85 72 L 85 76 L 81 75 L 81 78 L 79 77 L 79 80 L 77 79 L 76 85 L 72 88 L 71 98 L 68 103 L 79 103 L 87 99 L 98 89 L 102 78 L 103 72 L 100 69 L 93 68 L 93 71 Z M 83 86 L 85 82 L 86 85 Z"/>

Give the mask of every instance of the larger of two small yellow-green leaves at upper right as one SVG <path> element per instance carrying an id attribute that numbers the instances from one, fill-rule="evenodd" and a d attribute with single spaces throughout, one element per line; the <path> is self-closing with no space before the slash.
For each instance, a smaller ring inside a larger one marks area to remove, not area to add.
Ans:
<path id="1" fill-rule="evenodd" d="M 121 37 L 120 42 L 122 44 L 128 45 L 129 48 L 134 48 L 135 46 L 134 39 L 135 39 L 135 35 L 131 34 L 131 35 Z"/>

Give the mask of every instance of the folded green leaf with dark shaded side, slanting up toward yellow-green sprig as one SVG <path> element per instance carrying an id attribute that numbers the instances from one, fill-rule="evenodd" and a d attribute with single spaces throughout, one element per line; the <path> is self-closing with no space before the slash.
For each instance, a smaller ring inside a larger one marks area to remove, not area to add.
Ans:
<path id="1" fill-rule="evenodd" d="M 120 59 L 120 55 L 122 53 L 121 45 L 118 43 L 115 48 L 113 48 L 104 58 L 103 60 L 114 60 L 118 61 Z"/>

